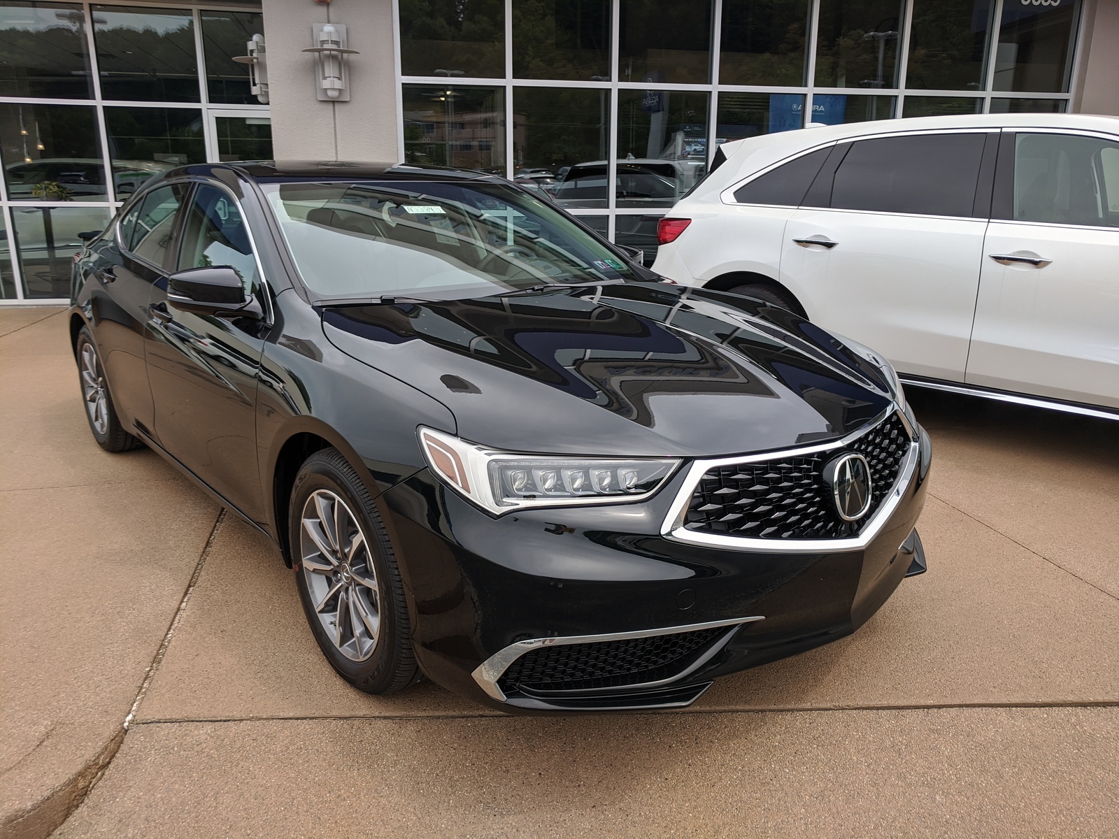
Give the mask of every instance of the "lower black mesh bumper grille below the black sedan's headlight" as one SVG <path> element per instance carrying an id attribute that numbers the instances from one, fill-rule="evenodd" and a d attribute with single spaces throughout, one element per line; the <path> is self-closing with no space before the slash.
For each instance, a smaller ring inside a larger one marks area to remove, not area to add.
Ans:
<path id="1" fill-rule="evenodd" d="M 528 690 L 623 688 L 677 676 L 730 626 L 624 641 L 555 644 L 526 652 L 509 664 L 498 686 L 507 695 Z"/>

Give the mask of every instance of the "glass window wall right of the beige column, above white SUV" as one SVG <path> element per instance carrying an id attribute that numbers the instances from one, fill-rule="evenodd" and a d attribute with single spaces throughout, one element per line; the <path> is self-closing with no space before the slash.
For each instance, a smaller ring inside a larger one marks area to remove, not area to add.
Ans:
<path id="1" fill-rule="evenodd" d="M 647 262 L 657 219 L 724 142 L 1069 110 L 1081 13 L 1081 0 L 396 3 L 405 159 L 504 173 Z"/>

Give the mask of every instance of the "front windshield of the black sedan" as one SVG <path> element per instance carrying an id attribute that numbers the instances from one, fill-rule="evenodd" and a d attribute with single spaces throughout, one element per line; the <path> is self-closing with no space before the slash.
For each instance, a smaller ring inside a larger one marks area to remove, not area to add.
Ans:
<path id="1" fill-rule="evenodd" d="M 637 279 L 545 201 L 473 182 L 262 185 L 303 283 L 321 298 L 472 296 Z"/>

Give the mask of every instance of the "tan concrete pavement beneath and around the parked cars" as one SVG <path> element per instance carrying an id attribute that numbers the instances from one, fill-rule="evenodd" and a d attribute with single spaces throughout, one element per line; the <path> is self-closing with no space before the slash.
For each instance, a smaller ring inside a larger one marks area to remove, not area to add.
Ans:
<path id="1" fill-rule="evenodd" d="M 858 633 L 684 713 L 513 718 L 338 679 L 274 550 L 102 453 L 63 319 L 7 311 L 6 835 L 107 766 L 59 836 L 1119 836 L 1115 423 L 913 392 L 930 572 Z"/>

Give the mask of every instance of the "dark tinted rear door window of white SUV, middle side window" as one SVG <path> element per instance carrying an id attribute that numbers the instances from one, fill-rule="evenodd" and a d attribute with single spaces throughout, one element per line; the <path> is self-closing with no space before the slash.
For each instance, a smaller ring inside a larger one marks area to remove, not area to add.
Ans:
<path id="1" fill-rule="evenodd" d="M 985 142 L 981 133 L 862 140 L 836 170 L 831 207 L 971 216 Z"/>

